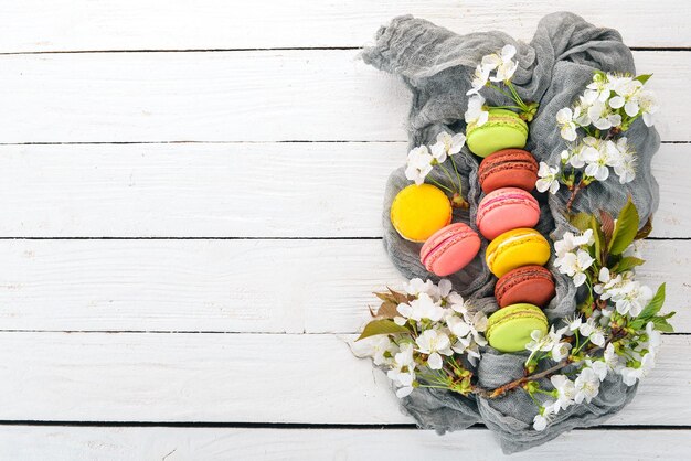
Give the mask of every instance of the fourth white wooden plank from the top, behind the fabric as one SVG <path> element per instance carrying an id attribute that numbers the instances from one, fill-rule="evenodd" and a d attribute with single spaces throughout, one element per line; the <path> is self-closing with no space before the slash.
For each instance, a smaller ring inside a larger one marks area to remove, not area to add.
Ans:
<path id="1" fill-rule="evenodd" d="M 354 333 L 373 290 L 403 277 L 379 240 L 3 240 L 0 328 Z M 691 332 L 691 242 L 648 240 L 641 278 L 667 282 Z"/>

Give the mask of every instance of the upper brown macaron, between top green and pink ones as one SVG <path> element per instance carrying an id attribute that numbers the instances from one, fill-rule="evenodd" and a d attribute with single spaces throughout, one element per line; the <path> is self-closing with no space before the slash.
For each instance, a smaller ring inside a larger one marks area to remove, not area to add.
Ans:
<path id="1" fill-rule="evenodd" d="M 535 189 L 538 161 L 527 150 L 502 149 L 487 157 L 478 169 L 478 180 L 486 194 L 501 187 Z"/>

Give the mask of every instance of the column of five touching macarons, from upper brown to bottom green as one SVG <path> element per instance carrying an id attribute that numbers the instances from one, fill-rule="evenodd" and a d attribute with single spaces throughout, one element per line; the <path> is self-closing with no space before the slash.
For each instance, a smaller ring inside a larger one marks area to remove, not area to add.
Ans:
<path id="1" fill-rule="evenodd" d="M 485 260 L 499 278 L 495 297 L 500 310 L 488 319 L 486 336 L 498 351 L 518 352 L 534 330 L 546 333 L 541 308 L 555 294 L 552 274 L 542 267 L 550 259 L 550 244 L 532 228 L 540 221 L 540 205 L 531 194 L 538 162 L 525 150 L 502 149 L 482 160 L 478 180 L 486 195 L 476 224 L 491 240 Z"/>

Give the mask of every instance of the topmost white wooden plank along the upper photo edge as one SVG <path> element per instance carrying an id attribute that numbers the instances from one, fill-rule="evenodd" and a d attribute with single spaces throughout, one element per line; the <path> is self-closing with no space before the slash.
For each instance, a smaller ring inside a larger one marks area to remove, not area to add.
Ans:
<path id="1" fill-rule="evenodd" d="M 617 28 L 632 46 L 689 46 L 682 0 L 602 2 L 583 0 L 568 10 Z M 378 1 L 115 0 L 9 2 L 0 8 L 0 52 L 71 50 L 190 50 L 361 46 L 398 14 L 426 18 L 459 33 L 502 30 L 530 40 L 542 15 L 564 7 L 550 0 Z M 299 24 L 299 26 L 295 26 Z M 663 24 L 655 28 L 650 24 Z"/>

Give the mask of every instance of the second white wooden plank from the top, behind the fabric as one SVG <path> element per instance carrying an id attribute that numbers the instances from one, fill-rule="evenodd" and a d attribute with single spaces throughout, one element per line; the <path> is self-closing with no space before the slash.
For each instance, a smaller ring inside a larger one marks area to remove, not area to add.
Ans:
<path id="1" fill-rule="evenodd" d="M 405 141 L 410 94 L 358 51 L 0 56 L 0 143 Z M 663 140 L 689 141 L 689 52 L 636 52 L 663 110 Z"/>

